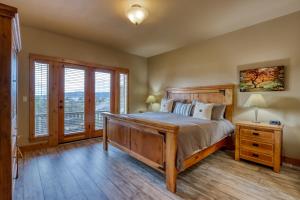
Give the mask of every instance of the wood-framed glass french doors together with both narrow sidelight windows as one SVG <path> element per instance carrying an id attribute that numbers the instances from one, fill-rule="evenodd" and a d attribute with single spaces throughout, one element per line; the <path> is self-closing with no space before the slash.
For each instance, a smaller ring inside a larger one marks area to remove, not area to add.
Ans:
<path id="1" fill-rule="evenodd" d="M 128 70 L 30 56 L 30 141 L 102 136 L 102 112 L 127 113 Z"/>

